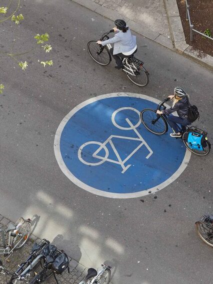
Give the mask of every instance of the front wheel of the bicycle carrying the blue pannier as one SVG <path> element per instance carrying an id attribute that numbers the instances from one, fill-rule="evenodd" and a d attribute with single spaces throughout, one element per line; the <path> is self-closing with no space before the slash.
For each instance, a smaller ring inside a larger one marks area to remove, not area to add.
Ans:
<path id="1" fill-rule="evenodd" d="M 165 118 L 161 115 L 159 115 L 157 121 L 153 123 L 153 120 L 156 118 L 157 114 L 153 109 L 145 108 L 140 112 L 140 119 L 145 128 L 153 134 L 162 135 L 168 130 L 168 124 Z M 159 130 L 157 131 L 157 129 Z"/>

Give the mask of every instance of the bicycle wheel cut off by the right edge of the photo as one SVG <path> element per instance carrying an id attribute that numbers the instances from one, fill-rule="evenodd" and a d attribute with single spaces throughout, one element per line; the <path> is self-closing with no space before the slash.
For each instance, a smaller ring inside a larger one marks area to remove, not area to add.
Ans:
<path id="1" fill-rule="evenodd" d="M 213 215 L 203 215 L 195 222 L 195 228 L 201 240 L 213 247 Z"/>

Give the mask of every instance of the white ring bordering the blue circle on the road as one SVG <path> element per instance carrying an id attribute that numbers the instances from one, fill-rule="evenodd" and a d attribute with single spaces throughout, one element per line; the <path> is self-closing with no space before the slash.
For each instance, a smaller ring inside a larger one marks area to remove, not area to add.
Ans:
<path id="1" fill-rule="evenodd" d="M 137 192 L 133 192 L 133 193 L 112 193 L 112 192 L 106 192 L 100 189 L 96 189 L 92 186 L 87 185 L 86 183 L 82 182 L 81 180 L 79 180 L 78 178 L 76 178 L 70 171 L 69 169 L 66 167 L 63 158 L 61 156 L 60 153 L 60 136 L 61 133 L 63 131 L 63 128 L 65 126 L 65 124 L 67 123 L 67 121 L 71 118 L 71 116 L 77 112 L 79 109 L 81 109 L 82 107 L 84 107 L 87 104 L 90 104 L 94 101 L 97 101 L 99 99 L 103 99 L 103 98 L 108 98 L 108 97 L 116 97 L 116 96 L 130 96 L 130 97 L 138 97 L 138 98 L 142 98 L 142 99 L 146 99 L 149 101 L 152 101 L 154 103 L 159 103 L 160 100 L 154 98 L 154 97 L 150 97 L 147 96 L 145 94 L 137 94 L 137 93 L 131 93 L 131 92 L 113 92 L 113 93 L 106 93 L 106 94 L 102 94 L 90 99 L 87 99 L 83 102 L 81 102 L 80 104 L 78 104 L 77 106 L 75 106 L 60 122 L 56 133 L 55 133 L 55 137 L 54 137 L 54 154 L 55 154 L 55 158 L 57 160 L 57 163 L 60 167 L 60 169 L 62 170 L 62 172 L 77 186 L 93 193 L 96 195 L 100 195 L 100 196 L 105 196 L 105 197 L 110 197 L 110 198 L 134 198 L 134 197 L 140 197 L 140 196 L 144 196 L 150 193 L 154 193 L 162 188 L 164 188 L 165 186 L 167 186 L 168 184 L 170 184 L 171 182 L 173 182 L 182 172 L 183 170 L 186 168 L 190 156 L 191 156 L 191 152 L 188 151 L 186 149 L 185 151 L 185 155 L 184 158 L 180 164 L 180 166 L 178 167 L 178 169 L 165 181 L 163 181 L 162 183 L 158 184 L 157 186 L 153 186 L 151 188 L 145 189 L 145 190 L 141 190 L 141 191 L 137 191 Z M 166 105 L 166 104 L 165 104 Z M 169 107 L 169 105 L 166 105 L 167 107 Z"/>

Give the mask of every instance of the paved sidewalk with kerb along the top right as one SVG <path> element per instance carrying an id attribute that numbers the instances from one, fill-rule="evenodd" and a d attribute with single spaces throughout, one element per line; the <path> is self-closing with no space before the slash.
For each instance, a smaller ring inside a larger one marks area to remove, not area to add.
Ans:
<path id="1" fill-rule="evenodd" d="M 176 0 L 72 0 L 114 21 L 123 18 L 130 28 L 182 55 L 213 67 L 213 57 L 185 42 Z"/>

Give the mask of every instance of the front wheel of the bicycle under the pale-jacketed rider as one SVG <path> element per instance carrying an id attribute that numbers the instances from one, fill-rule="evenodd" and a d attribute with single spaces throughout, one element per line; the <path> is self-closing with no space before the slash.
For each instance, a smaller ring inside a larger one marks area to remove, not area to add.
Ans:
<path id="1" fill-rule="evenodd" d="M 110 63 L 111 54 L 107 47 L 100 46 L 95 40 L 90 40 L 86 48 L 91 58 L 99 65 L 106 66 Z"/>

